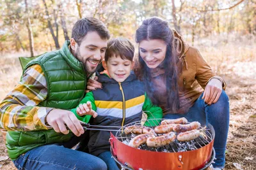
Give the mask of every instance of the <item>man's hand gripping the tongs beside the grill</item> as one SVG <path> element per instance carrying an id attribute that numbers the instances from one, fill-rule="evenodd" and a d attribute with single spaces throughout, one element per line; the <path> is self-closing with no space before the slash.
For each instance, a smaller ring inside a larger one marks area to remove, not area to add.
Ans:
<path id="1" fill-rule="evenodd" d="M 45 120 L 51 125 L 55 132 L 68 134 L 68 127 L 76 136 L 80 136 L 84 133 L 83 126 L 71 111 L 60 109 L 51 110 Z"/>

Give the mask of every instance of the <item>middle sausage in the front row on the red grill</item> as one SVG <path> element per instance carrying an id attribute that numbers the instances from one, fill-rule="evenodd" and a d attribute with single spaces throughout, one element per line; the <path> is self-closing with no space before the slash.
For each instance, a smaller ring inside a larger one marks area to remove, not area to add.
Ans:
<path id="1" fill-rule="evenodd" d="M 147 139 L 147 146 L 157 148 L 159 146 L 168 145 L 172 141 L 174 141 L 176 135 L 174 132 L 168 132 L 168 134 L 164 134 L 162 136 L 151 136 Z"/>

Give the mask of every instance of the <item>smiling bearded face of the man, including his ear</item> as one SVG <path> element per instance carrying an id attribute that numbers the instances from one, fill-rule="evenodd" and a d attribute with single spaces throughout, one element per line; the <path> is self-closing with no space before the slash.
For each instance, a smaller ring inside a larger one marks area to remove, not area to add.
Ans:
<path id="1" fill-rule="evenodd" d="M 77 60 L 83 63 L 86 73 L 94 73 L 98 64 L 104 59 L 107 41 L 107 39 L 101 39 L 97 32 L 88 32 L 81 44 L 78 46 L 76 43 L 72 48 Z"/>

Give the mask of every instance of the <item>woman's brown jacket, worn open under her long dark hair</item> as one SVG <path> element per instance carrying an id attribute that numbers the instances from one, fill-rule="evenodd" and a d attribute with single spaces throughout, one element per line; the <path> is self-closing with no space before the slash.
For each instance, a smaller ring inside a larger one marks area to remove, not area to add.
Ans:
<path id="1" fill-rule="evenodd" d="M 200 52 L 184 42 L 182 37 L 173 31 L 175 35 L 175 43 L 180 49 L 178 66 L 182 71 L 179 74 L 179 96 L 180 110 L 178 113 L 186 113 L 193 106 L 196 99 L 204 92 L 205 86 L 212 78 L 217 78 L 223 84 L 225 90 L 226 83 L 212 71 L 211 67 L 205 62 Z M 166 106 L 166 83 L 164 78 L 164 69 L 154 69 L 152 71 L 152 80 L 157 87 L 154 97 L 161 101 L 163 113 L 172 113 Z"/>

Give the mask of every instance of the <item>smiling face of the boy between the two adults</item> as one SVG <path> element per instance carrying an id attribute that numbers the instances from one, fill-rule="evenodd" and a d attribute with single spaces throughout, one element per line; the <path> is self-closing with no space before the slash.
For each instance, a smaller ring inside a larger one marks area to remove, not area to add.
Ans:
<path id="1" fill-rule="evenodd" d="M 131 73 L 132 62 L 131 60 L 123 60 L 118 56 L 111 56 L 106 62 L 109 76 L 117 82 L 123 82 Z"/>

